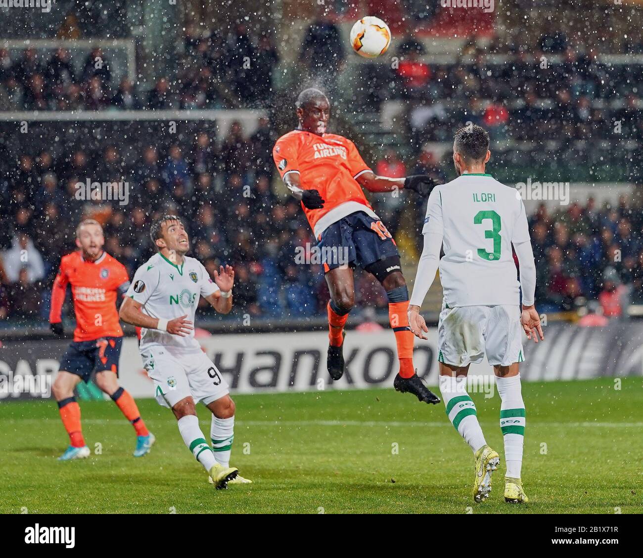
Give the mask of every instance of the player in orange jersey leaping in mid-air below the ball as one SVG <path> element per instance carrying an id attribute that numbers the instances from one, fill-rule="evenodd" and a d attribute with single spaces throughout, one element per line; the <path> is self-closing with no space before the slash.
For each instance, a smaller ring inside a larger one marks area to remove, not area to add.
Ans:
<path id="1" fill-rule="evenodd" d="M 321 252 L 328 304 L 328 371 L 338 380 L 344 373 L 343 331 L 355 301 L 353 267 L 376 276 L 388 297 L 390 325 L 395 332 L 399 373 L 394 386 L 420 401 L 439 403 L 415 374 L 413 334 L 408 326 L 408 289 L 402 275 L 397 246 L 368 203 L 362 187 L 370 192 L 406 188 L 428 195 L 428 176 L 386 178 L 376 176 L 363 161 L 354 143 L 327 134 L 330 104 L 318 89 L 305 89 L 296 101 L 299 127 L 277 140 L 273 158 L 285 185 L 302 202 Z"/>

